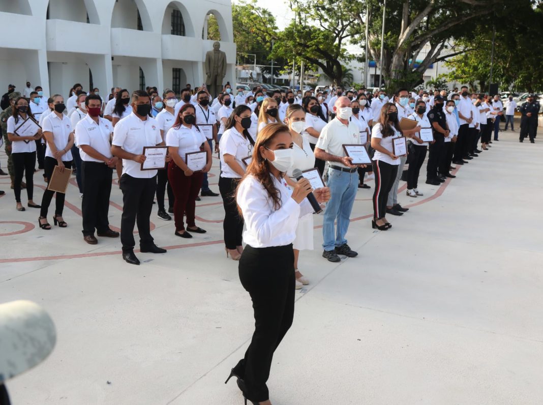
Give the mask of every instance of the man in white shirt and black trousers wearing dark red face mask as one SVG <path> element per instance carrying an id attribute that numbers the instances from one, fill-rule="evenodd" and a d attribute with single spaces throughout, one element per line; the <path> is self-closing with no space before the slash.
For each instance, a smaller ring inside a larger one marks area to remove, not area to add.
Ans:
<path id="1" fill-rule="evenodd" d="M 108 220 L 111 179 L 117 158 L 111 154 L 113 126 L 108 120 L 100 118 L 102 99 L 91 94 L 85 99 L 84 108 L 87 114 L 75 125 L 75 143 L 81 149 L 81 172 L 85 180 L 81 202 L 83 240 L 87 244 L 96 245 L 98 240 L 94 236 L 95 229 L 98 236 L 119 236 L 118 232 L 109 227 Z"/>

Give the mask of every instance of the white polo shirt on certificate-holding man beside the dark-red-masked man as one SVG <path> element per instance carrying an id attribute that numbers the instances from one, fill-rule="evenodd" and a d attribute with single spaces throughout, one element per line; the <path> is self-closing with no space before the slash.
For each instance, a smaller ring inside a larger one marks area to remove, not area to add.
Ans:
<path id="1" fill-rule="evenodd" d="M 113 129 L 111 144 L 120 146 L 129 153 L 139 155 L 143 153 L 144 146 L 156 146 L 161 142 L 159 123 L 151 117 L 147 117 L 143 121 L 132 113 L 117 122 Z M 141 163 L 134 160 L 123 159 L 123 175 L 151 178 L 156 176 L 156 173 L 156 170 L 141 170 Z"/>

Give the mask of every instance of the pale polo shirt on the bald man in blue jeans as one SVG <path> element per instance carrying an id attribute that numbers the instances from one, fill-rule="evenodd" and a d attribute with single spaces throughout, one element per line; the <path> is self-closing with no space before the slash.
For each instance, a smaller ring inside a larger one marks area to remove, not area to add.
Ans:
<path id="1" fill-rule="evenodd" d="M 348 125 L 345 125 L 336 117 L 329 123 L 327 123 L 323 130 L 320 132 L 317 145 L 315 147 L 323 149 L 327 153 L 344 157 L 345 151 L 343 145 L 359 144 L 360 139 L 358 137 L 358 125 L 349 121 Z M 329 162 L 332 165 L 347 167 L 343 163 Z"/>

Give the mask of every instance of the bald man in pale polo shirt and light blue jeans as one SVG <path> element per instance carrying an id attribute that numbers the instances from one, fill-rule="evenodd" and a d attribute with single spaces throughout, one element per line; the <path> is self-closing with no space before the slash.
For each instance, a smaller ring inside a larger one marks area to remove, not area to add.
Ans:
<path id="1" fill-rule="evenodd" d="M 326 160 L 328 167 L 327 185 L 331 198 L 326 204 L 323 222 L 323 257 L 337 262 L 338 254 L 348 257 L 357 256 L 352 251 L 345 234 L 349 228 L 352 204 L 358 190 L 358 166 L 351 163 L 343 149 L 343 145 L 360 144 L 359 130 L 356 123 L 351 122 L 351 101 L 343 96 L 334 103 L 333 112 L 336 117 L 326 124 L 315 145 L 315 158 Z M 365 165 L 362 165 L 365 167 Z M 337 220 L 337 233 L 334 222 Z"/>

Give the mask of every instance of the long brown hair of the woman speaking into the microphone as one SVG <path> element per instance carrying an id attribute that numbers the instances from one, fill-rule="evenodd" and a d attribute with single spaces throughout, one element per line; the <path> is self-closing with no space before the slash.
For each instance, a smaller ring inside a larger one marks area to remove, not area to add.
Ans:
<path id="1" fill-rule="evenodd" d="M 271 198 L 271 201 L 273 201 L 273 207 L 276 210 L 281 208 L 281 192 L 275 188 L 274 181 L 270 175 L 270 163 L 262 156 L 260 147 L 268 147 L 277 134 L 282 132 L 286 132 L 290 135 L 288 127 L 280 123 L 268 124 L 266 127 L 262 128 L 256 138 L 256 144 L 252 151 L 251 163 L 247 167 L 247 171 L 245 171 L 245 176 L 243 177 L 243 179 L 245 179 L 247 176 L 254 176 L 258 182 L 262 184 L 264 189 L 268 191 L 269 197 Z M 281 176 L 283 176 L 283 174 L 284 173 L 281 173 Z M 243 179 L 239 184 L 243 182 Z"/>

